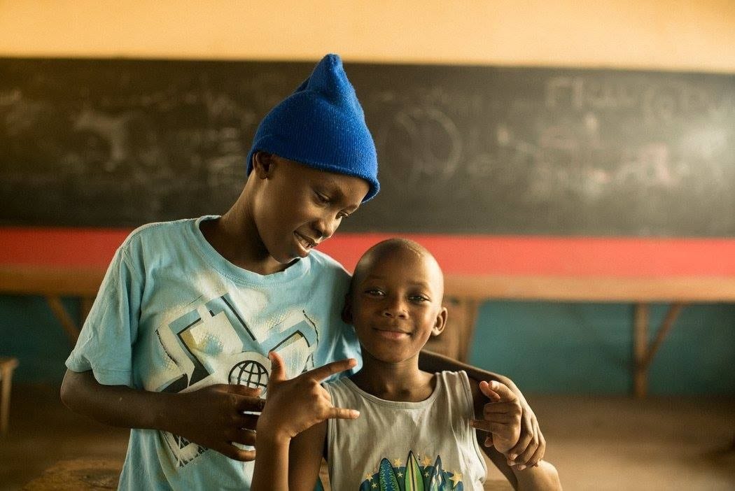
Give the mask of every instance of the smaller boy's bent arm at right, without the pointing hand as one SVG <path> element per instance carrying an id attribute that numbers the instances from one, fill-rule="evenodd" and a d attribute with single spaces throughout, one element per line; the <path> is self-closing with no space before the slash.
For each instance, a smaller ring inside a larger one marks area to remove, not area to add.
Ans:
<path id="1" fill-rule="evenodd" d="M 494 396 L 492 397 L 492 399 L 488 399 L 488 396 L 481 390 L 480 385 L 477 383 L 473 383 L 471 380 L 470 387 L 472 388 L 475 418 L 477 420 L 488 421 L 489 424 L 492 424 L 492 421 L 490 420 L 497 419 L 498 421 L 495 421 L 495 424 L 501 426 L 495 426 L 495 429 L 498 429 L 500 432 L 503 433 L 507 432 L 509 434 L 513 434 L 514 430 L 512 428 L 502 427 L 508 424 L 513 424 L 513 422 L 511 421 L 513 418 L 509 418 L 507 416 L 509 412 L 513 411 L 508 411 L 506 410 L 507 408 L 501 407 L 501 404 L 506 401 L 493 401 L 494 399 L 497 399 Z M 492 390 L 492 385 L 490 386 L 490 389 Z M 493 406 L 493 404 L 495 404 L 495 406 Z M 500 416 L 498 418 L 495 418 L 495 415 Z M 504 423 L 503 421 L 511 421 L 511 423 Z M 476 431 L 476 437 L 480 448 L 482 448 L 482 450 L 487 455 L 487 457 L 490 458 L 492 463 L 495 464 L 495 467 L 497 467 L 498 470 L 503 473 L 503 476 L 506 476 L 506 479 L 508 479 L 508 481 L 512 484 L 513 489 L 562 489 L 562 485 L 559 482 L 559 473 L 557 473 L 556 468 L 554 468 L 551 463 L 546 462 L 545 460 L 541 460 L 535 466 L 530 466 L 524 468 L 523 470 L 519 470 L 518 466 L 509 465 L 509 459 L 507 459 L 506 455 L 501 453 L 501 451 L 498 451 L 498 448 L 495 448 L 495 445 L 493 444 L 495 434 L 490 434 L 484 431 Z M 501 439 L 498 437 L 497 440 L 498 443 L 502 446 L 503 444 L 500 441 Z M 506 446 L 509 445 L 506 444 Z"/>

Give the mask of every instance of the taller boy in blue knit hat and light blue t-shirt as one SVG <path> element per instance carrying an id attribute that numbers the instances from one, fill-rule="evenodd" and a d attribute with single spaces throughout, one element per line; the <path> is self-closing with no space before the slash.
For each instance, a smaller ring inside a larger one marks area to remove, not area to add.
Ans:
<path id="1" fill-rule="evenodd" d="M 221 217 L 130 234 L 66 362 L 65 404 L 132 429 L 121 489 L 248 489 L 265 354 L 278 352 L 290 377 L 328 377 L 359 357 L 340 319 L 349 275 L 312 250 L 379 191 L 375 145 L 337 55 L 265 116 L 247 165 Z M 545 444 L 524 409 L 517 452 L 531 463 Z"/>

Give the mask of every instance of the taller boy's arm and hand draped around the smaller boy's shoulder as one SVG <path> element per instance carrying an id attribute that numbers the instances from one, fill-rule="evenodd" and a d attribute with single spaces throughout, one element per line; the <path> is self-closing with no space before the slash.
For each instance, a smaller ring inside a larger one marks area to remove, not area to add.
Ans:
<path id="1" fill-rule="evenodd" d="M 523 465 L 534 465 L 544 457 L 546 440 L 541 433 L 539 421 L 534 411 L 531 410 L 531 406 L 528 405 L 528 401 L 526 401 L 523 393 L 520 392 L 511 379 L 495 374 L 492 371 L 484 371 L 472 365 L 453 360 L 450 357 L 445 357 L 442 354 L 426 350 L 421 351 L 419 368 L 429 373 L 442 370 L 464 370 L 467 372 L 467 376 L 470 377 L 470 384 L 473 382 L 478 384 L 483 380 L 494 380 L 495 382 L 501 382 L 501 384 L 506 385 L 518 397 L 521 410 L 523 410 L 520 421 L 520 438 L 510 452 L 510 454 L 515 456 L 513 459 L 514 462 Z"/>

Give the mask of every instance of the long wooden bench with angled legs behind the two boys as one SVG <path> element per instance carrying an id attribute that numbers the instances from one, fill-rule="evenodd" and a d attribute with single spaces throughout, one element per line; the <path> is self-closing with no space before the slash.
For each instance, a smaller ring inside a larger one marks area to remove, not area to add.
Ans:
<path id="1" fill-rule="evenodd" d="M 104 269 L 97 267 L 0 265 L 0 294 L 46 297 L 72 342 L 79 337 L 79 324 L 65 310 L 61 297 L 78 297 L 82 322 L 92 305 Z M 477 311 L 486 300 L 547 302 L 615 302 L 635 304 L 633 323 L 634 393 L 645 396 L 648 368 L 656 350 L 671 330 L 684 305 L 696 302 L 735 302 L 735 277 L 561 277 L 528 275 L 448 274 L 445 297 L 459 337 L 445 346 L 446 354 L 467 360 Z M 648 311 L 651 302 L 670 304 L 669 311 L 648 342 Z M 432 348 L 438 348 L 433 346 Z"/>

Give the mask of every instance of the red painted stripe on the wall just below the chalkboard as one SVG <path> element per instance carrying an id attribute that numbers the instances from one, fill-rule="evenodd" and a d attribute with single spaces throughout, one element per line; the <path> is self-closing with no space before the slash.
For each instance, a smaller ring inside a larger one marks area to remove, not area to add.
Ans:
<path id="1" fill-rule="evenodd" d="M 0 263 L 105 266 L 128 229 L 0 228 Z M 393 234 L 338 233 L 320 250 L 352 269 Z M 638 239 L 409 234 L 450 274 L 732 276 L 735 239 Z"/>

